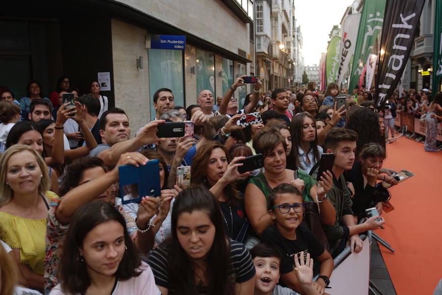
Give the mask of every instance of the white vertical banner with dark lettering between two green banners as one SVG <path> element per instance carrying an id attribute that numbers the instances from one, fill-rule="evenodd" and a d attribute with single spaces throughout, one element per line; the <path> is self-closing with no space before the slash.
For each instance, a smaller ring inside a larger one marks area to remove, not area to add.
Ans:
<path id="1" fill-rule="evenodd" d="M 360 21 L 360 13 L 347 15 L 342 23 L 341 28 L 341 48 L 338 68 L 337 84 L 341 87 L 347 73 L 350 59 L 355 53 L 356 38 L 358 37 L 358 27 Z"/>

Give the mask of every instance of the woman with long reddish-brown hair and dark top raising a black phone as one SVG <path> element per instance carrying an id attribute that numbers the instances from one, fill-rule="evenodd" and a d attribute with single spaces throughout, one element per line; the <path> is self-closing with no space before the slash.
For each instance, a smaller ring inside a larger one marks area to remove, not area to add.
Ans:
<path id="1" fill-rule="evenodd" d="M 244 213 L 244 201 L 235 181 L 247 177 L 249 172 L 238 172 L 238 161 L 246 157 L 236 157 L 230 161 L 227 148 L 217 142 L 209 142 L 198 149 L 192 162 L 191 183 L 210 189 L 220 202 L 224 229 L 227 235 L 244 243 L 249 229 L 249 221 Z"/>

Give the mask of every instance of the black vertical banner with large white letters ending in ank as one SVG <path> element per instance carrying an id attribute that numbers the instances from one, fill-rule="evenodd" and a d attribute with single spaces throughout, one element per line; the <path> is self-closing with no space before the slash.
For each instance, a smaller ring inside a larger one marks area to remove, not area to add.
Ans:
<path id="1" fill-rule="evenodd" d="M 376 75 L 375 104 L 378 110 L 393 94 L 402 77 L 414 43 L 425 0 L 388 0 L 381 55 Z"/>

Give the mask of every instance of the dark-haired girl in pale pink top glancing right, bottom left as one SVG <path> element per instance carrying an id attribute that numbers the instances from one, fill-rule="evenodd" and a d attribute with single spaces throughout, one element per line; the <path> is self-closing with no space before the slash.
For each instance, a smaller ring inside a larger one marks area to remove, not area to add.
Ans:
<path id="1" fill-rule="evenodd" d="M 98 201 L 72 216 L 51 295 L 161 295 L 150 266 L 141 262 L 117 209 Z"/>

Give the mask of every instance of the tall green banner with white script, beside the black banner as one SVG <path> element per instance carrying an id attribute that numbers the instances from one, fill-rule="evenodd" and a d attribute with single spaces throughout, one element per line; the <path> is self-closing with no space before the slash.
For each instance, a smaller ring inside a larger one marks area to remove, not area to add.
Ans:
<path id="1" fill-rule="evenodd" d="M 365 62 L 367 61 L 368 56 L 373 49 L 373 45 L 376 42 L 376 38 L 382 29 L 384 23 L 385 1 L 386 0 L 364 1 L 362 15 L 359 22 L 352 71 L 350 73 L 348 93 L 352 93 L 353 89 L 355 89 L 355 86 L 358 84 Z"/>

